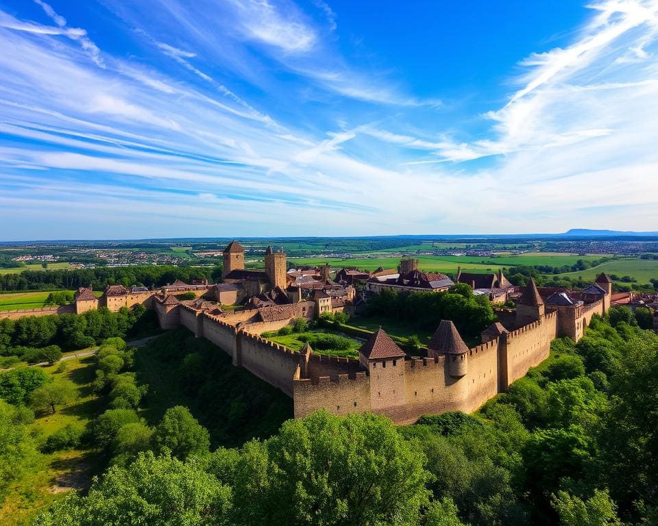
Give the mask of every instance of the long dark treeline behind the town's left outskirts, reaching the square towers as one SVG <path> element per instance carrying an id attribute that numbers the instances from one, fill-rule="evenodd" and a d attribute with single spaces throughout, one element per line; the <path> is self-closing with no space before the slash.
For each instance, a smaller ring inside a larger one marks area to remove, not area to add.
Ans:
<path id="1" fill-rule="evenodd" d="M 23 271 L 16 274 L 0 275 L 0 291 L 3 290 L 50 290 L 92 286 L 103 290 L 108 285 L 133 285 L 160 287 L 182 279 L 189 283 L 192 279 L 221 280 L 221 267 L 197 266 L 118 266 L 81 268 L 76 270 Z"/>

